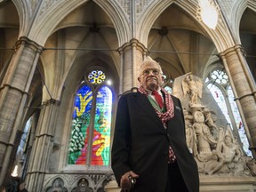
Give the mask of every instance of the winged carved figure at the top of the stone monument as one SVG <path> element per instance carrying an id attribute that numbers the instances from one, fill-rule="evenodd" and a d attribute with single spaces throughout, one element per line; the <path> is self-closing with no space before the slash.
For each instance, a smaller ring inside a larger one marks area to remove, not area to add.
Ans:
<path id="1" fill-rule="evenodd" d="M 196 80 L 193 76 L 189 73 L 182 81 L 182 90 L 184 96 L 189 95 L 190 104 L 198 103 L 198 97 L 202 98 L 202 89 L 203 83 L 202 81 Z"/>

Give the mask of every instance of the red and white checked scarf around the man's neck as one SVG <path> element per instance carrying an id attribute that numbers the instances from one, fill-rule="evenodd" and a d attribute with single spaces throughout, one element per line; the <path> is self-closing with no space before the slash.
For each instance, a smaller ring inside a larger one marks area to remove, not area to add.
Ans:
<path id="1" fill-rule="evenodd" d="M 161 91 L 164 92 L 164 96 L 165 96 L 165 107 L 166 107 L 166 112 L 161 112 L 158 111 L 155 108 L 156 114 L 157 116 L 159 116 L 159 118 L 161 119 L 162 123 L 164 124 L 164 128 L 166 128 L 166 122 L 170 119 L 172 119 L 172 117 L 174 116 L 174 106 L 173 106 L 173 100 L 170 94 L 168 94 L 168 92 L 166 92 L 164 90 L 164 88 L 161 87 Z M 148 92 L 143 88 L 142 85 L 140 85 L 139 87 L 139 92 L 141 94 L 144 94 L 146 96 L 148 96 Z"/>

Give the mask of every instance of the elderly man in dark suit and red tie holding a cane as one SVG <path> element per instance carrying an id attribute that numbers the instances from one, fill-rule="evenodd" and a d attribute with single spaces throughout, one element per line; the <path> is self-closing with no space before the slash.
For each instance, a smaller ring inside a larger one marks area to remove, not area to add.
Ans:
<path id="1" fill-rule="evenodd" d="M 160 65 L 144 60 L 138 92 L 118 101 L 112 169 L 118 185 L 138 192 L 198 192 L 197 164 L 186 144 L 180 100 L 161 88 Z M 136 182 L 135 182 L 136 180 Z"/>

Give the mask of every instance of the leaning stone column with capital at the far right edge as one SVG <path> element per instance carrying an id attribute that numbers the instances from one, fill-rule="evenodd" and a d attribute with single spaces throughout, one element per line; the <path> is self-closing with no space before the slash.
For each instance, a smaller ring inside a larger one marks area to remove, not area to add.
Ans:
<path id="1" fill-rule="evenodd" d="M 220 53 L 244 122 L 252 156 L 256 158 L 256 86 L 241 45 Z"/>

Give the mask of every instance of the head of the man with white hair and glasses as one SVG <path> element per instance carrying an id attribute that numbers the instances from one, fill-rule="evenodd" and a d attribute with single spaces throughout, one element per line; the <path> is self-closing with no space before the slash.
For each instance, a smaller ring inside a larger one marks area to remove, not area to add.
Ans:
<path id="1" fill-rule="evenodd" d="M 164 77 L 161 68 L 154 61 L 143 63 L 140 68 L 138 81 L 144 89 L 150 91 L 158 90 L 159 86 L 164 83 Z"/>

